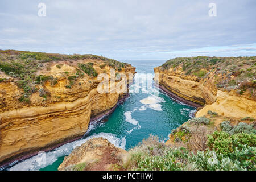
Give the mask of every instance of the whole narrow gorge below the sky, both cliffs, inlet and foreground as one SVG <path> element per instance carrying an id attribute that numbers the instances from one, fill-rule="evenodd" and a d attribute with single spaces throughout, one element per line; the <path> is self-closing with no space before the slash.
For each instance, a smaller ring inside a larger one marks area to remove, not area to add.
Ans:
<path id="1" fill-rule="evenodd" d="M 1 60 L 3 170 L 159 169 L 147 163 L 153 158 L 170 161 L 162 170 L 208 170 L 199 155 L 216 150 L 209 140 L 216 132 L 251 137 L 247 146 L 255 145 L 255 57 L 121 63 L 95 55 L 2 51 Z M 111 69 L 128 78 L 128 93 L 98 93 L 97 76 L 110 79 Z M 254 165 L 234 163 L 241 170 Z"/>

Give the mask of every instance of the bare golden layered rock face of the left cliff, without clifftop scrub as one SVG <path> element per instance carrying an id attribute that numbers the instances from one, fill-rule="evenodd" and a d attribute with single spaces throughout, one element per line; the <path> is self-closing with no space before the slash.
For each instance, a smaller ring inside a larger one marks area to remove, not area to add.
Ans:
<path id="1" fill-rule="evenodd" d="M 113 110 L 118 100 L 127 96 L 98 93 L 101 80 L 86 73 L 81 76 L 78 64 L 88 63 L 98 74 L 110 76 L 112 67 L 97 58 L 52 61 L 36 72 L 51 79 L 32 82 L 35 92 L 28 102 L 20 100 L 25 89 L 19 88 L 17 78 L 0 71 L 0 164 L 81 137 L 91 119 Z M 128 83 L 135 68 L 126 65 L 115 72 L 124 73 Z"/>

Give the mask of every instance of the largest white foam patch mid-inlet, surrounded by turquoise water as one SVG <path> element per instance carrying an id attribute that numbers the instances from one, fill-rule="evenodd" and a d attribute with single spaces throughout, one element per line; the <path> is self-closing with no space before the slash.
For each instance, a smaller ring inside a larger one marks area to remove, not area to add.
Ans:
<path id="1" fill-rule="evenodd" d="M 151 96 L 148 96 L 147 98 L 140 100 L 140 102 L 145 105 L 145 108 L 149 107 L 150 109 L 162 111 L 162 105 L 159 103 L 165 102 L 165 100 L 162 97 L 151 95 Z"/>

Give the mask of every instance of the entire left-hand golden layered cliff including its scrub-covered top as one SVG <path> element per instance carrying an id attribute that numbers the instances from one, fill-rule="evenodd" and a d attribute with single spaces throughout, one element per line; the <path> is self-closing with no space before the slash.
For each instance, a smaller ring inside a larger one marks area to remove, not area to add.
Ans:
<path id="1" fill-rule="evenodd" d="M 0 166 L 84 135 L 90 120 L 127 96 L 98 93 L 96 76 L 113 68 L 128 83 L 135 72 L 95 55 L 1 51 L 0 59 Z"/>

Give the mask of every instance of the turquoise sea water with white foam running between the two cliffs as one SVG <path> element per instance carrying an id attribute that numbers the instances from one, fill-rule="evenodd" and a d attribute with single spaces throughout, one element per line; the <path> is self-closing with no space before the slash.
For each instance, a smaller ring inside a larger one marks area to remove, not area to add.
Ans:
<path id="1" fill-rule="evenodd" d="M 139 73 L 154 73 L 154 67 L 162 65 L 164 61 L 125 61 L 136 67 L 135 78 Z M 143 80 L 142 82 L 147 81 Z M 151 84 L 151 83 L 149 83 Z M 152 85 L 154 82 L 152 81 Z M 93 137 L 104 137 L 115 146 L 129 150 L 150 134 L 158 135 L 163 141 L 168 139 L 172 129 L 192 117 L 195 108 L 172 100 L 155 88 L 142 93 L 143 84 L 133 84 L 130 92 L 140 89 L 139 93 L 131 93 L 130 97 L 118 105 L 114 112 L 97 123 L 91 123 L 84 138 L 64 144 L 45 154 L 44 163 L 38 162 L 38 156 L 23 160 L 9 168 L 11 170 L 56 170 L 63 162 L 64 156 L 76 146 Z M 145 100 L 146 99 L 146 100 Z"/>

